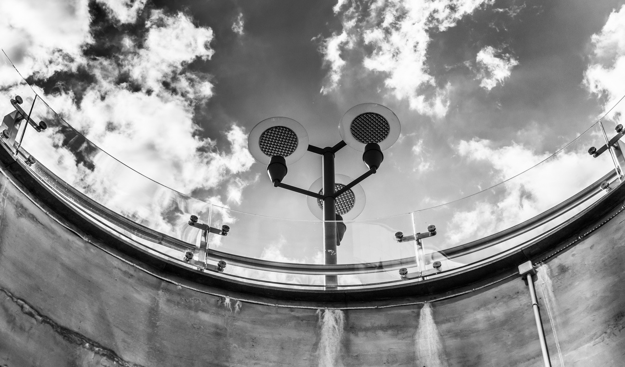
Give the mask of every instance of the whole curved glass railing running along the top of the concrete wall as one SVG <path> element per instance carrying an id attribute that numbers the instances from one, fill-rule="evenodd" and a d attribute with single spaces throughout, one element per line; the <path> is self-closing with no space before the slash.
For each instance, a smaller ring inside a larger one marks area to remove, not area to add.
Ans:
<path id="1" fill-rule="evenodd" d="M 605 144 L 593 124 L 531 169 L 481 192 L 412 213 L 345 221 L 332 253 L 336 265 L 323 265 L 323 222 L 244 213 L 161 185 L 86 139 L 6 58 L 0 67 L 2 112 L 14 113 L 9 100 L 20 95 L 32 121 L 15 124 L 2 140 L 42 185 L 154 256 L 252 284 L 316 289 L 336 276 L 338 288 L 376 287 L 479 266 L 560 228 L 604 195 L 602 180 L 618 183 L 607 152 L 587 153 Z M 189 225 L 192 215 L 196 225 Z M 217 268 L 219 261 L 227 266 Z"/>

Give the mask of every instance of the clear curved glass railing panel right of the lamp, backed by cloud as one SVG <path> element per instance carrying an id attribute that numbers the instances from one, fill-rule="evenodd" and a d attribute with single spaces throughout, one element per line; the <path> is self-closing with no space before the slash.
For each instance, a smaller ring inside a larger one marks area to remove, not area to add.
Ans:
<path id="1" fill-rule="evenodd" d="M 564 149 L 516 177 L 455 202 L 416 212 L 417 231 L 424 232 L 428 225 L 437 228 L 436 236 L 422 240 L 426 273 L 462 267 L 529 243 L 596 202 L 602 196 L 597 190 L 581 205 L 557 210 L 563 206 L 558 204 L 614 172 L 607 152 L 597 158 L 587 152 L 591 146 L 600 147 L 602 141 L 595 124 Z M 547 210 L 554 211 L 555 217 L 547 215 Z M 525 223 L 524 232 L 514 232 L 511 238 L 503 236 L 502 231 L 541 213 L 545 218 Z M 496 238 L 487 238 L 496 233 Z M 441 262 L 438 269 L 433 267 L 436 261 Z"/>

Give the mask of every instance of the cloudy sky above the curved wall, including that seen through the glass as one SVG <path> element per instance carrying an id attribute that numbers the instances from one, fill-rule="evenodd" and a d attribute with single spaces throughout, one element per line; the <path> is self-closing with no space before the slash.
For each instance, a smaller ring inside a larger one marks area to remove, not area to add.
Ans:
<path id="1" fill-rule="evenodd" d="M 188 213 L 206 217 L 202 202 L 243 212 L 214 213 L 247 233 L 235 252 L 250 253 L 258 241 L 254 256 L 285 261 L 319 261 L 314 245 L 289 247 L 293 233 L 319 226 L 252 217 L 316 219 L 306 197 L 272 187 L 247 150 L 261 120 L 294 119 L 310 144 L 325 147 L 341 140 L 338 122 L 354 105 L 374 102 L 397 115 L 401 135 L 362 182 L 364 222 L 348 238 L 345 261 L 368 261 L 411 251 L 356 245 L 412 232 L 408 213 L 422 210 L 414 228 L 436 222 L 436 246 L 451 247 L 594 182 L 611 161 L 586 154 L 603 139 L 591 126 L 625 95 L 622 0 L 2 0 L 0 12 L 6 55 L 94 144 L 85 143 L 89 155 L 54 127 L 28 132 L 24 146 L 39 161 L 164 232 L 180 232 L 171 218 L 184 226 Z M 9 95 L 17 86 L 2 70 Z M 34 110 L 44 116 L 41 106 Z M 625 102 L 607 114 L 607 134 L 624 110 Z M 537 169 L 454 202 L 524 172 L 589 128 Z M 110 156 L 96 157 L 96 146 Z M 301 188 L 321 176 L 315 154 L 288 168 L 284 182 Z M 361 152 L 337 152 L 337 174 L 364 172 Z M 173 210 L 172 200 L 184 208 Z M 371 223 L 383 230 L 356 235 Z"/>

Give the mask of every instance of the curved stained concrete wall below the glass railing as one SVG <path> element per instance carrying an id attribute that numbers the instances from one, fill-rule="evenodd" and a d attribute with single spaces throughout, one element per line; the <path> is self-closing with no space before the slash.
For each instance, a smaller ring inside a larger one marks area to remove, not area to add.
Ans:
<path id="1" fill-rule="evenodd" d="M 0 366 L 542 365 L 527 286 L 514 273 L 427 305 L 419 302 L 451 293 L 328 314 L 314 303 L 227 305 L 158 276 L 224 290 L 109 255 L 54 216 L 0 176 Z M 622 365 L 624 220 L 620 213 L 539 268 L 554 366 Z"/>

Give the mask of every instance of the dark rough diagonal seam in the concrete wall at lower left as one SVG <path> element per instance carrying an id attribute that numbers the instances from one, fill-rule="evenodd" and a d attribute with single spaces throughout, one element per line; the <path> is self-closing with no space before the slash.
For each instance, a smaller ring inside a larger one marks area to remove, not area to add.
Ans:
<path id="1" fill-rule="evenodd" d="M 10 291 L 0 287 L 0 290 L 7 295 L 13 303 L 15 303 L 22 310 L 24 315 L 30 316 L 34 318 L 34 320 L 38 324 L 49 325 L 55 333 L 61 336 L 64 340 L 68 341 L 71 344 L 80 345 L 83 348 L 92 351 L 96 355 L 104 356 L 109 358 L 109 360 L 114 361 L 114 363 L 118 363 L 119 365 L 126 367 L 143 367 L 141 365 L 135 365 L 134 363 L 129 363 L 123 360 L 115 351 L 106 348 L 95 340 L 88 338 L 87 336 L 82 335 L 74 330 L 70 330 L 65 326 L 61 326 L 56 321 L 52 320 L 48 316 L 41 315 L 39 311 L 37 311 L 34 307 L 29 305 L 26 301 L 21 298 L 17 298 Z"/>

